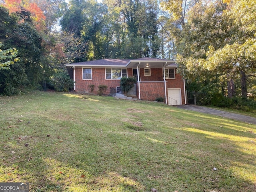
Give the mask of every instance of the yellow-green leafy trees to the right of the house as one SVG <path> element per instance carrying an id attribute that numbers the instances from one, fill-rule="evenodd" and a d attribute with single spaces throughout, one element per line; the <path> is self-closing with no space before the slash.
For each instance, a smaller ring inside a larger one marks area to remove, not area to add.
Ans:
<path id="1" fill-rule="evenodd" d="M 247 98 L 255 92 L 255 0 L 170 0 L 162 5 L 172 15 L 166 27 L 188 90 L 207 90 L 202 100 L 208 104 L 216 104 L 212 98 L 219 94 Z"/>

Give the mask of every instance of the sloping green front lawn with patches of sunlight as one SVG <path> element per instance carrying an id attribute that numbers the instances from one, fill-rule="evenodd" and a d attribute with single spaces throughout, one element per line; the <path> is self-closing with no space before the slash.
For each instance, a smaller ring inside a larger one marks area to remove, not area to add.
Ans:
<path id="1" fill-rule="evenodd" d="M 53 92 L 2 96 L 0 114 L 0 182 L 31 192 L 256 191 L 256 125 Z"/>

